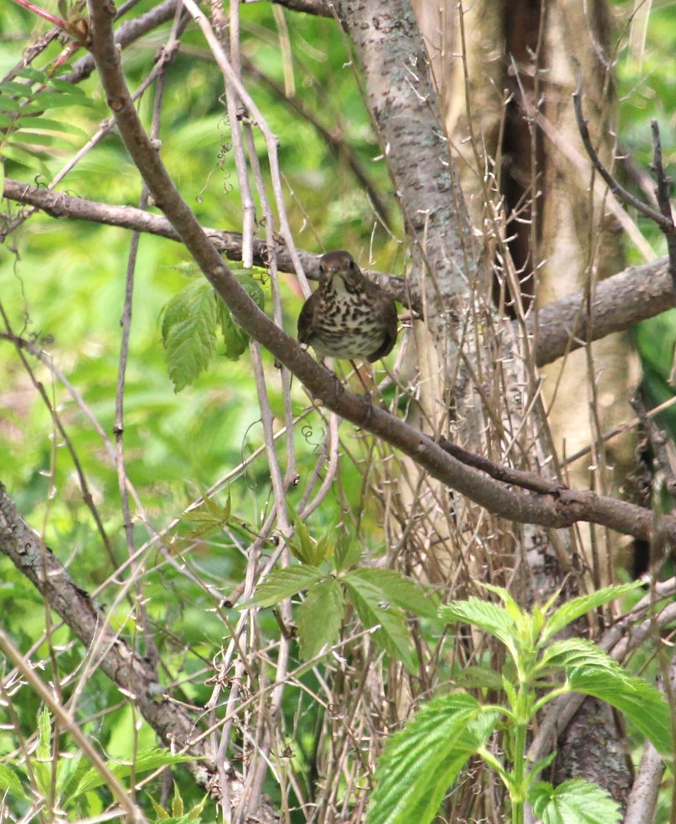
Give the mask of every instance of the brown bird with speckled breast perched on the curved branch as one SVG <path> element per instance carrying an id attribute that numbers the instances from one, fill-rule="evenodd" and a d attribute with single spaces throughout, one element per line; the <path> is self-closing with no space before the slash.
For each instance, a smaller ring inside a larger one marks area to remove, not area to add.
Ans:
<path id="1" fill-rule="evenodd" d="M 397 307 L 349 252 L 327 252 L 319 262 L 319 288 L 298 316 L 298 341 L 318 358 L 373 363 L 397 343 Z"/>

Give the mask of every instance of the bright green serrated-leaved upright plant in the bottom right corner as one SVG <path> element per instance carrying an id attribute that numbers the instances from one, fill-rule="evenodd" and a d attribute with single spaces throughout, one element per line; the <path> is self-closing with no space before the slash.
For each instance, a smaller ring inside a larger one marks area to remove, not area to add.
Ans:
<path id="1" fill-rule="evenodd" d="M 509 793 L 513 824 L 523 822 L 526 802 L 538 820 L 546 824 L 617 822 L 617 803 L 596 785 L 574 780 L 554 788 L 546 781 L 535 781 L 551 757 L 528 765 L 525 747 L 529 725 L 538 710 L 556 696 L 575 691 L 607 701 L 631 719 L 660 752 L 673 755 L 669 705 L 654 686 L 627 675 L 591 641 L 552 640 L 585 611 L 636 586 L 607 587 L 574 598 L 548 617 L 551 601 L 527 613 L 504 589 L 487 585 L 486 589 L 500 597 L 503 606 L 476 597 L 443 606 L 439 614 L 444 620 L 467 622 L 505 644 L 513 665 L 503 670 L 505 703 L 484 706 L 458 691 L 423 705 L 387 742 L 378 762 L 378 784 L 367 822 L 428 824 L 470 756 L 480 756 L 500 776 Z M 486 672 L 484 683 L 495 687 L 494 673 Z M 498 729 L 499 720 L 509 760 L 506 755 L 499 758 L 485 746 Z"/>

